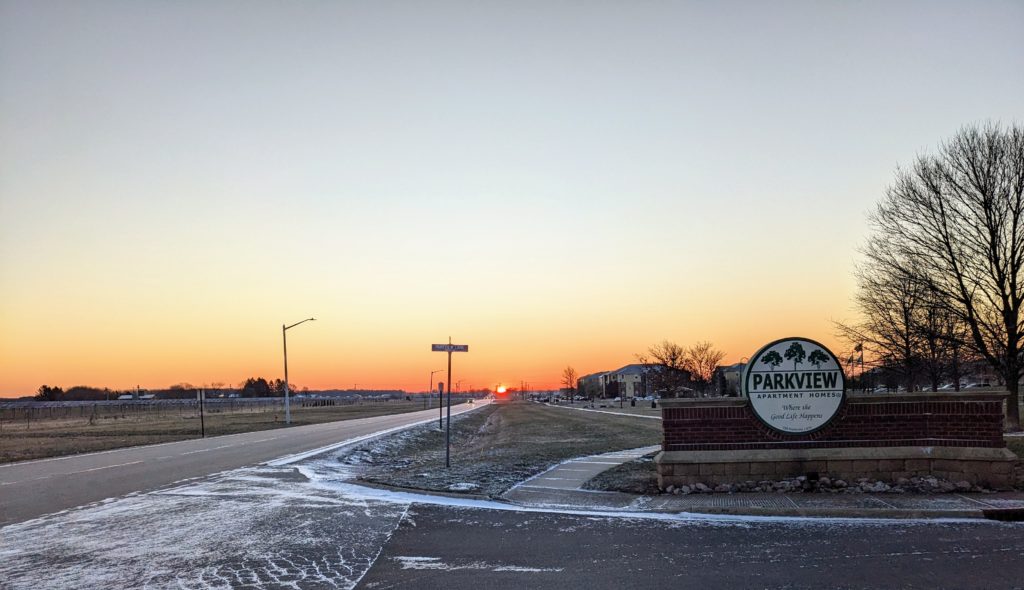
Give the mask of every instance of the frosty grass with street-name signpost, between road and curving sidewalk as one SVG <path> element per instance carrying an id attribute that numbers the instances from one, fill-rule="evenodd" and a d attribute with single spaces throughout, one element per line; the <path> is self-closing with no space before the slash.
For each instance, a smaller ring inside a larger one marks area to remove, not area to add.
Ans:
<path id="1" fill-rule="evenodd" d="M 396 488 L 499 496 L 567 459 L 656 445 L 662 424 L 530 403 L 492 404 L 452 421 L 452 466 L 444 432 L 420 427 L 368 444 L 342 460 L 359 478 Z"/>

